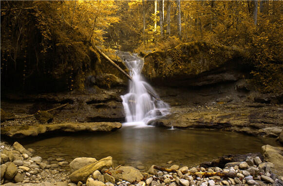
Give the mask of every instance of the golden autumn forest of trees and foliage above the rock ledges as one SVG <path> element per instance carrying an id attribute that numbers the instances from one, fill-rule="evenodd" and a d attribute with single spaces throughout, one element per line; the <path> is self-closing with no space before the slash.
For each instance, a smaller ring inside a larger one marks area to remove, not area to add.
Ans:
<path id="1" fill-rule="evenodd" d="M 1 1 L 1 90 L 83 88 L 91 43 L 146 55 L 200 41 L 243 50 L 257 88 L 278 92 L 282 11 L 276 0 Z"/>

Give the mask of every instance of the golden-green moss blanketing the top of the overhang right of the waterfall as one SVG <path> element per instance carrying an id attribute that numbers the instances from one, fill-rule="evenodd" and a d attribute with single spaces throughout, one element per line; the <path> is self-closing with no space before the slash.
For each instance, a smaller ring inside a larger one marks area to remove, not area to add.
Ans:
<path id="1" fill-rule="evenodd" d="M 155 51 L 146 55 L 143 73 L 148 78 L 195 76 L 243 56 L 245 53 L 239 48 L 208 42 L 189 42 L 167 51 Z"/>

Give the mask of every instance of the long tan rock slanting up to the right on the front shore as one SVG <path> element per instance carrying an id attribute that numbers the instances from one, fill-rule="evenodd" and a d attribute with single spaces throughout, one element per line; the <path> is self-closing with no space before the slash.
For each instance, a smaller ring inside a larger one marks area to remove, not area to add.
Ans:
<path id="1" fill-rule="evenodd" d="M 112 166 L 113 166 L 113 160 L 112 160 L 112 157 L 109 156 L 109 157 L 99 160 L 98 162 L 83 166 L 75 170 L 75 172 L 70 174 L 70 179 L 74 183 L 78 183 L 79 181 L 86 183 L 89 175 L 91 175 L 95 170 L 101 170 L 103 168 L 110 168 Z"/>

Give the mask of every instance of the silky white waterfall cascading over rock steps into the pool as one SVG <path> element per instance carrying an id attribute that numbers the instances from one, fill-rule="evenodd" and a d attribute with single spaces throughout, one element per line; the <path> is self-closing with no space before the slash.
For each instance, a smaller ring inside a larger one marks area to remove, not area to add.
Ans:
<path id="1" fill-rule="evenodd" d="M 149 83 L 143 81 L 141 76 L 143 59 L 128 52 L 119 52 L 118 56 L 124 60 L 132 77 L 129 93 L 121 96 L 127 122 L 124 125 L 143 127 L 151 121 L 170 114 L 170 106 L 159 99 Z"/>

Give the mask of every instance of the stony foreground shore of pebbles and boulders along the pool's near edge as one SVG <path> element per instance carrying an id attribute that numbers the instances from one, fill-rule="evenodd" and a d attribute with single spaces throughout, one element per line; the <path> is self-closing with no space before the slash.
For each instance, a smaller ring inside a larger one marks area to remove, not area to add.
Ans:
<path id="1" fill-rule="evenodd" d="M 262 146 L 262 155 L 221 158 L 196 167 L 152 165 L 146 172 L 113 165 L 113 158 L 43 160 L 18 142 L 1 146 L 1 185 L 14 186 L 282 186 L 283 147 Z M 226 164 L 221 165 L 221 161 Z M 211 166 L 209 166 L 211 165 Z M 220 166 L 220 167 L 219 167 Z M 68 167 L 68 168 L 67 168 Z"/>

